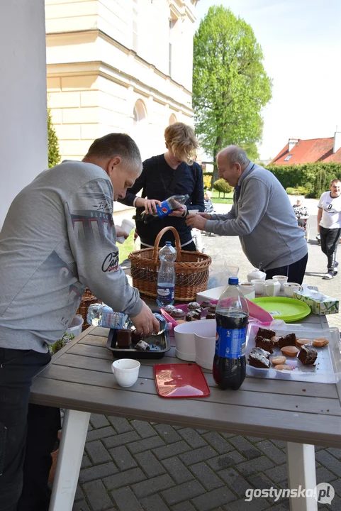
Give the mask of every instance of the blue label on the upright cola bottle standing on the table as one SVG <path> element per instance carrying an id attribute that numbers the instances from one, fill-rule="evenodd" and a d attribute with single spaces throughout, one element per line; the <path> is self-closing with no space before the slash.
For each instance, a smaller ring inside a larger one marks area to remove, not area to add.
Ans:
<path id="1" fill-rule="evenodd" d="M 224 329 L 217 325 L 216 355 L 223 358 L 241 358 L 245 355 L 247 329 Z"/>

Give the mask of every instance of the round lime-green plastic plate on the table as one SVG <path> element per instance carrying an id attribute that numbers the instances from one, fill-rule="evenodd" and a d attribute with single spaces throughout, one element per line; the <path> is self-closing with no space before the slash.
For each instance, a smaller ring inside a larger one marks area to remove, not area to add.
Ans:
<path id="1" fill-rule="evenodd" d="M 300 300 L 286 297 L 261 297 L 251 300 L 269 312 L 274 319 L 283 319 L 284 322 L 293 322 L 308 316 L 311 308 Z"/>

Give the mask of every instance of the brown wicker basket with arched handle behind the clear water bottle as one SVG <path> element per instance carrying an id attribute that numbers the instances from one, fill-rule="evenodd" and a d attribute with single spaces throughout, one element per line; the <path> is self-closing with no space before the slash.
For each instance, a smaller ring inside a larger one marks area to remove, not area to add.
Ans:
<path id="1" fill-rule="evenodd" d="M 165 227 L 155 240 L 154 248 L 143 248 L 130 253 L 130 275 L 133 286 L 137 287 L 140 295 L 155 300 L 157 295 L 157 272 L 160 268 L 159 243 L 166 231 L 172 231 L 175 236 L 177 260 L 175 261 L 175 301 L 179 303 L 193 302 L 196 293 L 206 290 L 208 268 L 211 257 L 201 252 L 181 250 L 180 238 L 174 227 Z"/>

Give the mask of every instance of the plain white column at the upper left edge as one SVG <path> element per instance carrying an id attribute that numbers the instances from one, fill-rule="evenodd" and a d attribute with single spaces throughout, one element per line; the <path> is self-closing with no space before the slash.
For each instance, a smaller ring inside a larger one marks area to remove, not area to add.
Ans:
<path id="1" fill-rule="evenodd" d="M 47 168 L 44 0 L 0 1 L 0 229 L 16 194 Z"/>

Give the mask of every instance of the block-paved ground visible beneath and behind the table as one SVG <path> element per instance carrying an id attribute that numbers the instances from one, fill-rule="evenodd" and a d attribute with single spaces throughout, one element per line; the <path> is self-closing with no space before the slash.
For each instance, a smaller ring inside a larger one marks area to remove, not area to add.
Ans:
<path id="1" fill-rule="evenodd" d="M 306 282 L 340 297 L 340 276 L 322 280 L 326 258 L 315 242 L 315 216 L 310 221 Z M 220 251 L 240 266 L 240 278 L 246 278 L 251 266 L 238 238 L 204 236 L 206 253 L 216 250 L 218 240 Z M 341 328 L 340 315 L 328 321 Z M 287 498 L 245 501 L 250 488 L 287 488 L 285 445 L 272 439 L 91 415 L 73 511 L 289 510 Z M 341 449 L 316 446 L 315 461 L 317 482 L 330 483 L 335 490 L 332 504 L 319 505 L 319 510 L 339 511 Z"/>

